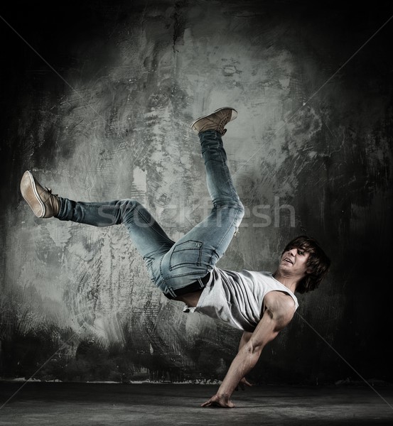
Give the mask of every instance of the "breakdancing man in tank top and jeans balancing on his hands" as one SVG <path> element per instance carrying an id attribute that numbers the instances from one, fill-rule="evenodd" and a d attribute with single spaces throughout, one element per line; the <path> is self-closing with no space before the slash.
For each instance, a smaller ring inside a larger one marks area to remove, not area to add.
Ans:
<path id="1" fill-rule="evenodd" d="M 300 236 L 286 246 L 273 274 L 225 271 L 215 266 L 244 214 L 222 146 L 225 126 L 236 116 L 235 109 L 225 107 L 191 125 L 200 138 L 213 208 L 203 222 L 176 242 L 136 200 L 75 202 L 53 195 L 29 171 L 21 180 L 22 195 L 37 217 L 93 226 L 124 224 L 151 280 L 166 297 L 184 302 L 185 312 L 200 312 L 243 330 L 237 356 L 217 393 L 203 407 L 234 406 L 230 400 L 233 391 L 239 384 L 249 386 L 245 376 L 262 349 L 294 316 L 298 307 L 295 290 L 306 293 L 316 288 L 330 264 L 315 240 Z"/>

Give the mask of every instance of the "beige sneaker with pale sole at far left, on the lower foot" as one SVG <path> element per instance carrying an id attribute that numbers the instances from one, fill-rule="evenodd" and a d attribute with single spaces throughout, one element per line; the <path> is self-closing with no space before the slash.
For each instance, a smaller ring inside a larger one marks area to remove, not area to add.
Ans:
<path id="1" fill-rule="evenodd" d="M 21 192 L 36 217 L 58 215 L 60 209 L 58 196 L 53 195 L 50 188 L 42 187 L 28 170 L 22 176 Z"/>

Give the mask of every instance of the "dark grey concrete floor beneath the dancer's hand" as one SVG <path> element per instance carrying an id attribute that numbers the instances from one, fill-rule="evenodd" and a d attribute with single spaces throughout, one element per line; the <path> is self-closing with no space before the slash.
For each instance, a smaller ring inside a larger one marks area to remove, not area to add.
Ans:
<path id="1" fill-rule="evenodd" d="M 0 406 L 23 383 L 0 383 Z M 232 409 L 200 408 L 212 385 L 27 383 L 0 425 L 393 425 L 393 387 L 254 386 Z M 389 403 L 389 405 L 387 404 Z"/>

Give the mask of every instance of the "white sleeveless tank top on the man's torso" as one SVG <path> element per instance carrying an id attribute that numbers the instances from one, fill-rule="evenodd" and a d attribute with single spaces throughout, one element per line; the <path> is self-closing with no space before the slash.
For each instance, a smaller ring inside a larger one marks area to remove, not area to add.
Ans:
<path id="1" fill-rule="evenodd" d="M 186 305 L 183 312 L 200 312 L 244 332 L 253 332 L 262 318 L 264 297 L 274 290 L 290 295 L 294 299 L 295 310 L 298 308 L 294 293 L 273 278 L 270 272 L 213 268 L 198 305 Z"/>

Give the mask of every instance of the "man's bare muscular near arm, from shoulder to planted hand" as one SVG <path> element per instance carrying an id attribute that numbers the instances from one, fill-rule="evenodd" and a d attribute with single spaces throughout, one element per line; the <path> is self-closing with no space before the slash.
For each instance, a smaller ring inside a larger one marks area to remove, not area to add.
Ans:
<path id="1" fill-rule="evenodd" d="M 239 344 L 239 351 L 232 361 L 227 375 L 217 393 L 202 406 L 220 405 L 232 408 L 234 404 L 230 397 L 237 384 L 257 364 L 262 349 L 283 329 L 294 316 L 294 301 L 290 296 L 280 292 L 268 293 L 264 298 L 266 307 L 262 320 L 254 332 L 244 333 Z M 251 335 L 250 335 L 251 334 Z"/>

